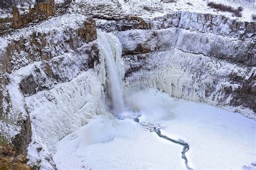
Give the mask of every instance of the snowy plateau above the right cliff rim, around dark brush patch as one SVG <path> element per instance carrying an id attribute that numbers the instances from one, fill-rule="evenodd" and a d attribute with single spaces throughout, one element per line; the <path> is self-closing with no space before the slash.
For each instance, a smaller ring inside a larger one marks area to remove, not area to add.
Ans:
<path id="1" fill-rule="evenodd" d="M 237 8 L 238 6 L 242 6 L 245 11 L 242 13 L 242 18 L 238 18 L 240 20 L 251 22 L 251 14 L 253 13 L 253 9 L 255 9 L 255 4 L 252 2 L 248 3 L 245 1 L 237 1 L 236 3 L 226 1 L 213 0 L 217 3 L 222 3 L 226 5 L 233 6 L 233 8 Z M 106 9 L 111 8 L 114 11 L 118 11 L 118 13 L 123 15 L 134 15 L 134 16 L 142 16 L 143 18 L 151 18 L 157 16 L 163 16 L 166 13 L 173 11 L 190 11 L 197 13 L 212 13 L 214 15 L 223 15 L 232 19 L 236 19 L 237 17 L 233 17 L 233 13 L 231 12 L 221 12 L 215 9 L 209 8 L 207 3 L 209 1 L 205 0 L 178 0 L 176 3 L 164 3 L 161 0 L 129 0 L 125 2 L 124 0 L 111 1 L 111 0 L 77 0 L 76 3 L 73 4 L 73 10 L 75 11 L 86 11 L 81 7 L 77 8 L 77 4 L 91 5 L 91 6 L 107 6 Z M 82 5 L 82 6 L 84 6 Z M 106 10 L 105 9 L 105 10 Z M 95 11 L 96 13 L 102 13 L 104 9 L 100 8 L 99 11 Z M 109 11 L 105 11 L 102 13 L 106 15 Z M 117 15 L 117 13 L 114 13 Z"/>

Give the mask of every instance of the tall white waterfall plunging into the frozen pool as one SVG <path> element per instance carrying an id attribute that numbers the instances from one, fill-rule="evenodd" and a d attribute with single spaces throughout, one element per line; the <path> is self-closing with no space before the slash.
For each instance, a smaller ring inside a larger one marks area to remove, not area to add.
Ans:
<path id="1" fill-rule="evenodd" d="M 112 109 L 117 115 L 125 110 L 122 86 L 122 46 L 117 37 L 111 33 L 97 30 L 97 36 L 100 58 L 104 65 L 103 68 L 107 72 L 106 80 L 112 98 Z M 105 70 L 103 71 L 104 75 Z"/>

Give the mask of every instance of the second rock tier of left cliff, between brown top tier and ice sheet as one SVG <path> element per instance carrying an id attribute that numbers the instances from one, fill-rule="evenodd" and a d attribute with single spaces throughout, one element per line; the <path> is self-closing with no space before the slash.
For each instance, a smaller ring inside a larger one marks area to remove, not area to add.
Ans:
<path id="1" fill-rule="evenodd" d="M 72 58 L 70 55 L 73 55 Z M 82 56 L 81 56 L 82 55 Z M 21 78 L 19 89 L 24 96 L 49 90 L 55 84 L 72 80 L 79 72 L 94 67 L 98 61 L 98 46 L 95 42 L 77 49 L 77 54 L 63 54 L 49 61 L 42 61 L 30 68 L 30 74 Z"/>

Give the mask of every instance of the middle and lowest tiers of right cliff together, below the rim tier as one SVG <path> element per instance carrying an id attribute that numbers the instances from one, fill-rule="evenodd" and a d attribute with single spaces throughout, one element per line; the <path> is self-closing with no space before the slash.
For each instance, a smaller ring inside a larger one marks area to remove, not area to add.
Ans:
<path id="1" fill-rule="evenodd" d="M 254 36 L 241 40 L 182 27 L 115 34 L 123 45 L 127 91 L 163 89 L 177 98 L 218 105 L 255 119 Z"/>

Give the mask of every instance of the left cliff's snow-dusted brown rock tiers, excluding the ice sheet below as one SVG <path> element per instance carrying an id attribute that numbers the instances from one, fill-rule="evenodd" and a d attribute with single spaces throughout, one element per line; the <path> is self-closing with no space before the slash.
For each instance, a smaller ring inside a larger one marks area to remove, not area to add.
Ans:
<path id="1" fill-rule="evenodd" d="M 27 154 L 33 131 L 26 97 L 93 68 L 96 39 L 95 21 L 82 15 L 52 18 L 0 38 L 0 137 L 18 153 Z"/>

